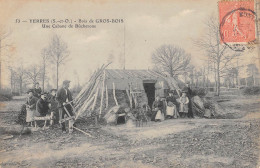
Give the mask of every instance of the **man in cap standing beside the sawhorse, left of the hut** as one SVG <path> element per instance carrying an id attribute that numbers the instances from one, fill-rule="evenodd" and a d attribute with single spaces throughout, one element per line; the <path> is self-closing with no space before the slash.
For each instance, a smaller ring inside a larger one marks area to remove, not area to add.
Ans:
<path id="1" fill-rule="evenodd" d="M 72 112 L 72 107 L 70 104 L 67 104 L 68 102 L 72 101 L 72 94 L 69 90 L 69 86 L 70 86 L 70 81 L 69 80 L 65 80 L 63 81 L 63 86 L 62 88 L 60 88 L 57 92 L 57 100 L 58 100 L 58 108 L 59 108 L 59 114 L 60 119 L 64 119 L 64 115 L 66 113 L 64 107 L 67 109 L 67 111 L 69 112 L 69 114 L 71 116 L 73 116 L 73 112 Z M 63 133 L 66 133 L 66 128 L 65 128 L 65 122 L 63 122 L 61 124 L 61 129 Z"/>

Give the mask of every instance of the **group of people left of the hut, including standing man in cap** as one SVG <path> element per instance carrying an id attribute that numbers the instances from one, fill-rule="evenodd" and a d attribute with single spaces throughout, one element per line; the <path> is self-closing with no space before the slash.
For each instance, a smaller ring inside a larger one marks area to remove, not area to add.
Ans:
<path id="1" fill-rule="evenodd" d="M 45 117 L 54 113 L 54 124 L 64 119 L 65 115 L 74 116 L 72 109 L 72 94 L 69 90 L 70 81 L 63 81 L 63 87 L 58 91 L 51 89 L 49 93 L 42 92 L 39 83 L 33 89 L 29 89 L 26 103 L 22 106 L 18 121 L 23 120 L 28 126 L 37 126 L 34 117 Z M 66 110 L 65 110 L 66 108 Z M 65 122 L 61 123 L 62 131 L 65 133 Z"/>

